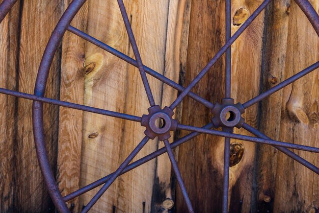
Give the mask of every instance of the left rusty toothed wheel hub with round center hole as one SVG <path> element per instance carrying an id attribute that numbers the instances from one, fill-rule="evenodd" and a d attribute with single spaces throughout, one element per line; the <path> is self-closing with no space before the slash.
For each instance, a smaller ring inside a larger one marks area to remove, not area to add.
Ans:
<path id="1" fill-rule="evenodd" d="M 161 109 L 158 105 L 148 108 L 149 114 L 143 114 L 141 125 L 146 127 L 145 135 L 154 139 L 165 140 L 171 137 L 170 131 L 175 131 L 177 121 L 173 119 L 174 112 L 169 107 Z"/>

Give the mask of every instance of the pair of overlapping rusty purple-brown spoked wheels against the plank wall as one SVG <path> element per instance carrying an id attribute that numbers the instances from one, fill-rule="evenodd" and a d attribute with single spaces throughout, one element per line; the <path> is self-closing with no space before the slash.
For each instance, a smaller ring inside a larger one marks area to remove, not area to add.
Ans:
<path id="1" fill-rule="evenodd" d="M 189 212 L 194 212 L 190 198 L 186 192 L 182 177 L 180 175 L 179 169 L 177 167 L 176 160 L 174 158 L 172 149 L 185 143 L 186 141 L 196 137 L 197 135 L 204 133 L 204 134 L 211 134 L 225 137 L 225 151 L 224 151 L 224 174 L 223 174 L 223 198 L 222 198 L 222 212 L 228 212 L 228 182 L 229 182 L 229 155 L 230 155 L 230 138 L 236 138 L 241 140 L 252 141 L 255 143 L 261 144 L 268 144 L 272 145 L 281 152 L 285 153 L 289 157 L 295 159 L 299 163 L 303 164 L 308 169 L 312 170 L 316 174 L 319 175 L 319 168 L 315 167 L 315 165 L 311 164 L 310 162 L 306 161 L 305 159 L 301 158 L 294 152 L 288 150 L 290 149 L 297 149 L 297 150 L 304 150 L 309 152 L 319 153 L 319 148 L 316 147 L 309 147 L 303 145 L 296 145 L 291 143 L 286 143 L 283 141 L 272 140 L 268 136 L 264 135 L 263 133 L 259 132 L 258 130 L 254 129 L 253 127 L 249 126 L 245 123 L 242 114 L 245 113 L 245 109 L 252 106 L 253 104 L 261 101 L 262 99 L 270 96 L 274 92 L 284 88 L 285 86 L 295 82 L 299 78 L 309 74 L 313 70 L 319 67 L 319 61 L 312 64 L 311 66 L 305 68 L 298 74 L 291 76 L 290 78 L 282 81 L 281 83 L 277 84 L 273 88 L 259 94 L 257 97 L 247 101 L 244 104 L 241 103 L 234 103 L 233 99 L 230 97 L 230 74 L 231 74 L 231 44 L 240 36 L 245 29 L 250 25 L 250 23 L 258 16 L 258 14 L 271 2 L 271 0 L 264 0 L 264 2 L 251 14 L 251 16 L 243 23 L 243 25 L 238 29 L 233 36 L 231 36 L 230 31 L 230 0 L 226 0 L 226 43 L 222 46 L 221 50 L 208 62 L 208 64 L 201 70 L 198 76 L 187 86 L 182 87 L 179 84 L 171 81 L 170 79 L 164 77 L 161 74 L 156 73 L 154 70 L 150 69 L 149 67 L 143 65 L 142 59 L 139 54 L 138 46 L 135 41 L 134 34 L 130 27 L 129 19 L 127 17 L 127 13 L 123 4 L 122 0 L 117 0 L 118 5 L 125 23 L 125 27 L 129 36 L 129 41 L 132 46 L 132 50 L 134 52 L 136 60 L 128 57 L 127 55 L 113 49 L 111 46 L 102 43 L 101 41 L 93 38 L 92 36 L 70 26 L 70 22 L 73 17 L 76 15 L 77 11 L 82 7 L 82 5 L 86 2 L 86 0 L 73 0 L 65 13 L 63 14 L 62 18 L 58 22 L 56 29 L 51 34 L 49 42 L 46 46 L 39 71 L 36 80 L 34 94 L 26 94 L 18 91 L 12 91 L 4 88 L 0 88 L 0 93 L 9 94 L 12 96 L 25 98 L 33 100 L 33 130 L 34 130 L 34 138 L 35 138 L 35 145 L 36 145 L 36 152 L 38 156 L 38 161 L 40 164 L 41 172 L 45 180 L 45 184 L 47 186 L 48 192 L 54 201 L 57 210 L 60 213 L 67 213 L 70 212 L 66 205 L 66 201 L 69 201 L 73 198 L 76 198 L 79 195 L 82 195 L 93 188 L 104 184 L 98 193 L 92 198 L 92 200 L 87 204 L 87 206 L 82 210 L 82 212 L 88 212 L 90 208 L 95 204 L 95 202 L 102 196 L 102 194 L 108 190 L 109 186 L 115 181 L 115 179 L 123 173 L 126 173 L 139 165 L 144 164 L 145 162 L 164 154 L 165 152 L 168 153 L 168 156 L 171 160 L 173 171 L 175 172 L 177 182 L 180 186 L 182 195 L 184 197 L 185 203 L 189 209 Z M 16 0 L 4 0 L 3 3 L 0 5 L 0 21 L 5 17 L 8 13 L 10 8 L 14 5 Z M 299 5 L 305 15 L 308 17 L 309 21 L 311 22 L 315 32 L 319 36 L 319 16 L 316 11 L 313 9 L 311 4 L 307 0 L 295 0 L 295 2 Z M 119 57 L 120 59 L 130 63 L 139 68 L 143 85 L 145 87 L 145 91 L 147 94 L 147 98 L 150 104 L 148 108 L 148 114 L 143 116 L 134 116 L 128 115 L 120 112 L 114 112 L 54 99 L 49 99 L 44 97 L 45 86 L 47 82 L 47 77 L 50 69 L 50 65 L 54 55 L 57 51 L 57 47 L 59 42 L 62 40 L 62 37 L 66 31 L 70 31 L 79 37 L 99 46 L 99 48 L 112 53 L 113 55 Z M 226 54 L 226 70 L 225 70 L 225 97 L 221 103 L 210 103 L 205 99 L 199 97 L 197 94 L 191 92 L 192 88 L 200 81 L 200 79 L 208 72 L 208 70 L 215 64 L 215 62 L 223 55 Z M 147 80 L 146 73 L 150 76 L 153 76 L 162 82 L 172 86 L 173 88 L 180 91 L 179 96 L 177 99 L 170 105 L 166 106 L 161 109 L 156 103 L 154 102 L 152 92 Z M 178 124 L 176 120 L 173 119 L 173 110 L 176 106 L 183 100 L 185 96 L 189 96 L 192 99 L 200 102 L 204 106 L 208 107 L 214 117 L 211 119 L 211 123 L 207 124 L 204 127 L 194 127 L 194 126 L 187 126 Z M 44 129 L 43 129 L 43 103 L 55 104 L 59 106 L 89 111 L 93 113 L 103 114 L 107 116 L 117 117 L 119 119 L 125 119 L 130 121 L 139 122 L 141 126 L 145 127 L 145 137 L 141 140 L 139 145 L 129 154 L 129 156 L 124 160 L 124 162 L 120 165 L 120 167 L 112 174 L 105 176 L 79 190 L 62 197 L 59 188 L 57 186 L 55 176 L 52 173 L 47 152 L 45 149 L 45 141 L 44 141 Z M 226 114 L 229 114 L 227 117 Z M 162 126 L 158 126 L 158 120 L 161 119 L 163 121 Z M 221 127 L 222 131 L 213 130 L 212 128 Z M 257 137 L 251 137 L 241 134 L 233 134 L 233 128 L 244 128 L 251 132 L 252 134 L 256 135 Z M 178 140 L 174 141 L 173 143 L 169 143 L 168 138 L 171 136 L 170 131 L 176 130 L 188 130 L 192 133 L 179 138 Z M 143 148 L 143 146 L 150 140 L 158 137 L 159 140 L 164 142 L 165 148 L 159 149 L 131 164 L 130 161 L 137 155 L 137 153 Z"/>

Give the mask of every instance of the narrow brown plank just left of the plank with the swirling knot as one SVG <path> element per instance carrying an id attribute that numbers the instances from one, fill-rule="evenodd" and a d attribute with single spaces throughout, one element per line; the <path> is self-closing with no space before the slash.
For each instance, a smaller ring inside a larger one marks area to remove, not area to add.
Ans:
<path id="1" fill-rule="evenodd" d="M 268 90 L 284 80 L 288 37 L 290 1 L 275 0 L 270 3 L 267 29 L 264 38 L 263 90 Z M 259 129 L 273 139 L 279 139 L 282 107 L 282 90 L 261 102 Z M 271 146 L 257 146 L 256 195 L 252 211 L 272 212 L 276 182 L 278 151 Z"/>

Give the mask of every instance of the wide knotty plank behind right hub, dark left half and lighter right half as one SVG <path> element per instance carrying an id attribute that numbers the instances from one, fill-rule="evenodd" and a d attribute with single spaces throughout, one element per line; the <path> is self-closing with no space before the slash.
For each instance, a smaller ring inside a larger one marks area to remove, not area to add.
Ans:
<path id="1" fill-rule="evenodd" d="M 232 2 L 232 16 L 245 8 L 251 14 L 262 1 Z M 186 73 L 186 85 L 196 76 L 221 48 L 225 38 L 225 2 L 192 2 L 189 51 Z M 232 33 L 240 26 L 233 25 Z M 212 33 L 214 32 L 214 33 Z M 232 45 L 232 98 L 235 102 L 245 102 L 259 92 L 261 48 L 263 33 L 263 13 Z M 224 93 L 223 60 L 219 60 L 210 72 L 201 80 L 194 91 L 208 100 L 220 102 Z M 247 81 L 247 79 L 250 79 Z M 244 92 L 245 91 L 245 92 Z M 257 108 L 245 112 L 246 122 L 256 126 Z M 193 100 L 183 102 L 183 122 L 203 126 L 209 122 L 211 114 Z M 247 132 L 235 130 L 235 133 Z M 223 174 L 223 138 L 199 136 L 179 149 L 179 165 L 191 194 L 196 212 L 220 212 Z M 231 212 L 249 212 L 253 180 L 255 145 L 244 141 L 244 155 L 241 161 L 230 168 L 229 203 Z M 187 211 L 182 196 L 177 191 L 177 212 Z"/>

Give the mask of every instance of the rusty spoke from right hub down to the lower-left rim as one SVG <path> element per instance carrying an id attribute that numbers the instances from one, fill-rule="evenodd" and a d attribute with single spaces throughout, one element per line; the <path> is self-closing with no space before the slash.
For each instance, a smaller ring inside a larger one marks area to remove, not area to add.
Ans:
<path id="1" fill-rule="evenodd" d="M 209 124 L 203 126 L 202 128 L 210 129 L 210 128 L 212 128 L 212 124 L 209 123 Z M 197 135 L 200 135 L 200 134 L 201 133 L 199 133 L 199 132 L 192 132 L 192 133 L 190 133 L 188 135 L 185 135 L 184 137 L 182 137 L 182 138 L 174 141 L 172 144 L 170 144 L 170 147 L 172 149 L 174 149 L 174 148 L 178 147 L 179 145 L 191 140 L 192 138 L 194 138 L 194 137 L 196 137 Z M 149 155 L 147 155 L 147 156 L 145 156 L 145 157 L 143 157 L 143 158 L 141 158 L 141 159 L 129 164 L 122 171 L 121 175 L 126 173 L 126 172 L 131 171 L 132 169 L 135 169 L 135 168 L 139 167 L 140 165 L 142 165 L 142 164 L 144 164 L 144 163 L 146 163 L 146 162 L 148 162 L 148 161 L 154 159 L 155 157 L 157 157 L 159 155 L 162 155 L 164 153 L 166 153 L 166 148 L 161 148 L 159 150 L 156 150 L 155 152 L 153 152 L 153 153 L 151 153 L 151 154 L 149 154 Z M 108 176 L 105 176 L 105 177 L 103 177 L 103 178 L 101 178 L 101 179 L 99 179 L 99 180 L 97 180 L 97 181 L 95 181 L 93 183 L 90 183 L 89 185 L 86 185 L 86 186 L 80 188 L 79 190 L 77 190 L 77 191 L 65 196 L 63 198 L 64 201 L 66 202 L 66 201 L 72 200 L 72 199 L 74 199 L 74 198 L 76 198 L 76 197 L 78 197 L 78 196 L 80 196 L 80 195 L 92 190 L 93 188 L 95 188 L 95 187 L 97 187 L 99 185 L 102 185 L 103 183 L 107 182 L 112 175 L 113 175 L 113 173 L 108 175 Z"/>

